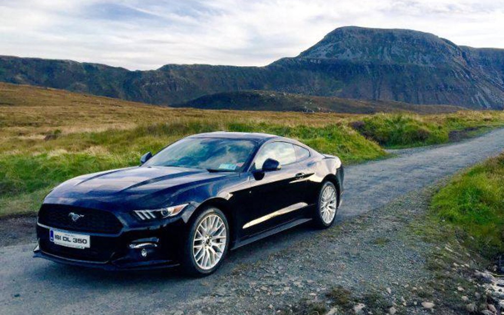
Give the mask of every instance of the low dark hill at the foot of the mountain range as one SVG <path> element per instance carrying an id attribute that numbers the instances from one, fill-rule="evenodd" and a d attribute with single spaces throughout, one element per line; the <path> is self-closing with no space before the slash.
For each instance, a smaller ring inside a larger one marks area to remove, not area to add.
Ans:
<path id="1" fill-rule="evenodd" d="M 378 112 L 438 114 L 454 113 L 463 110 L 461 107 L 448 105 L 419 105 L 398 101 L 360 100 L 335 96 L 311 96 L 262 90 L 210 94 L 188 102 L 172 104 L 171 107 L 347 114 L 373 114 Z"/>

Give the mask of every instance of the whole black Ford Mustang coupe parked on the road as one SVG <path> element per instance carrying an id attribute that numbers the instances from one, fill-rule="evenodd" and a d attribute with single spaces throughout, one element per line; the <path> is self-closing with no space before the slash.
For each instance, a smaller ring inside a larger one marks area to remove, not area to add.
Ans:
<path id="1" fill-rule="evenodd" d="M 275 135 L 181 139 L 141 166 L 76 177 L 45 198 L 36 257 L 104 269 L 181 265 L 214 272 L 228 249 L 312 220 L 334 222 L 343 192 L 336 156 Z"/>

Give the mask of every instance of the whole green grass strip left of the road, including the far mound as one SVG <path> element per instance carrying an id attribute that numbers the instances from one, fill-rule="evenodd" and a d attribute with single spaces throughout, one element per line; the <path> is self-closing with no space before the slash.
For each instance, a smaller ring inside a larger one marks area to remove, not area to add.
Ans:
<path id="1" fill-rule="evenodd" d="M 366 128 L 372 126 L 366 129 L 368 132 L 359 128 L 355 128 L 356 131 L 352 128 L 352 121 L 306 126 L 282 122 L 196 120 L 100 132 L 61 133 L 55 129 L 46 133 L 54 135 L 47 140 L 12 137 L 0 146 L 4 148 L 0 153 L 0 216 L 33 213 L 45 192 L 67 179 L 138 165 L 143 153 L 157 152 L 168 143 L 194 133 L 228 130 L 277 134 L 298 139 L 320 152 L 338 155 L 348 165 L 384 158 L 387 153 L 377 142 L 384 147 L 443 143 L 448 141 L 450 128 L 467 128 L 474 124 L 473 121 L 488 123 L 482 119 L 461 122 L 463 117 L 460 114 L 457 120 L 447 115 L 442 117 L 449 121 L 450 127 L 446 127 L 444 121 L 432 118 L 431 122 L 425 122 L 427 117 L 423 116 L 378 114 L 362 120 Z M 436 127 L 438 125 L 443 127 Z"/>

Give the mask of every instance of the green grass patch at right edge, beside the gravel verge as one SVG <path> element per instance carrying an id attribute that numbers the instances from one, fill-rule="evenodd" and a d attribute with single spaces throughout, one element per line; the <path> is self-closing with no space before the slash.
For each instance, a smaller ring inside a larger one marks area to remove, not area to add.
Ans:
<path id="1" fill-rule="evenodd" d="M 433 198 L 432 215 L 487 258 L 504 251 L 504 153 L 459 174 Z"/>

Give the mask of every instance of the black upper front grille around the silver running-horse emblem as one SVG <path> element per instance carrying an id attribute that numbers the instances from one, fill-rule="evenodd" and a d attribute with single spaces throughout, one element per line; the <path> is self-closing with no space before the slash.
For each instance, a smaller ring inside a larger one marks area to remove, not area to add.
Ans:
<path id="1" fill-rule="evenodd" d="M 83 217 L 74 221 L 71 213 Z M 79 232 L 117 234 L 122 229 L 120 221 L 110 212 L 61 204 L 43 204 L 38 222 L 51 228 Z"/>

